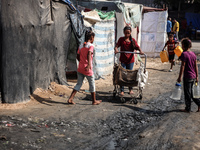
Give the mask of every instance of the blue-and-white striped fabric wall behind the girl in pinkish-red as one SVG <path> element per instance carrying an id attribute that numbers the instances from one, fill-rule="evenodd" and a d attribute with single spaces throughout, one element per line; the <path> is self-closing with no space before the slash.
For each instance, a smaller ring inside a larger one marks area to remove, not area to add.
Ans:
<path id="1" fill-rule="evenodd" d="M 113 71 L 115 46 L 115 21 L 102 21 L 94 25 L 94 73 L 96 77 Z"/>

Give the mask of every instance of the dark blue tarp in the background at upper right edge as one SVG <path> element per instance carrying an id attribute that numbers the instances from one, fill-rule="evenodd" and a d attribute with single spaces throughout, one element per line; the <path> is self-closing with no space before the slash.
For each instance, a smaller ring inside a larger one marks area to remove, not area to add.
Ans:
<path id="1" fill-rule="evenodd" d="M 192 22 L 193 28 L 200 29 L 200 14 L 197 13 L 185 13 L 185 18 L 187 19 L 187 25 Z"/>

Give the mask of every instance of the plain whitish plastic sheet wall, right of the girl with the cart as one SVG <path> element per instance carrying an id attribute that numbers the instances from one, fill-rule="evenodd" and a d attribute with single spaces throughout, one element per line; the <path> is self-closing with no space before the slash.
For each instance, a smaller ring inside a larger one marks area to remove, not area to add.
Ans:
<path id="1" fill-rule="evenodd" d="M 141 48 L 150 57 L 157 57 L 166 43 L 167 11 L 145 13 L 142 20 Z"/>

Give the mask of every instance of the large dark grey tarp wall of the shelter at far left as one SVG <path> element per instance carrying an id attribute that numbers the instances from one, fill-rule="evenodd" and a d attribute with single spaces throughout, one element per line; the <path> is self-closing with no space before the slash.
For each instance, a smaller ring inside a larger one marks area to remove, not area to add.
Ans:
<path id="1" fill-rule="evenodd" d="M 68 6 L 52 0 L 2 0 L 0 10 L 3 102 L 27 101 L 51 81 L 65 84 Z"/>

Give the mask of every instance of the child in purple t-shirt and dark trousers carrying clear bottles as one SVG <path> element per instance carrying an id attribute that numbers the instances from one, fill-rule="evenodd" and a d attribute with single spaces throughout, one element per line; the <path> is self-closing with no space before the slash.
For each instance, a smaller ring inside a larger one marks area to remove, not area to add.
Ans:
<path id="1" fill-rule="evenodd" d="M 181 110 L 183 112 L 191 111 L 191 99 L 198 106 L 197 112 L 200 111 L 200 99 L 194 98 L 192 89 L 195 82 L 198 83 L 198 66 L 197 66 L 197 57 L 194 52 L 190 50 L 192 43 L 190 39 L 184 38 L 181 41 L 183 53 L 180 57 L 182 63 L 180 68 L 179 77 L 177 82 L 181 82 L 183 76 L 183 86 L 184 86 L 184 95 L 185 95 L 185 109 Z"/>

